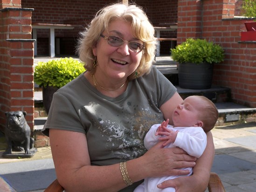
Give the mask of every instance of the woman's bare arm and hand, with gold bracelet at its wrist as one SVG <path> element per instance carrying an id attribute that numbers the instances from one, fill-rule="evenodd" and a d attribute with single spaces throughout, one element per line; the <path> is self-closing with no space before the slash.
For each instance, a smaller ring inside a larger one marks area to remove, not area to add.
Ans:
<path id="1" fill-rule="evenodd" d="M 119 164 L 90 165 L 87 139 L 83 133 L 50 129 L 49 137 L 56 175 L 66 192 L 116 192 L 126 187 Z M 177 168 L 195 165 L 195 158 L 186 155 L 183 150 L 163 149 L 161 145 L 127 162 L 128 174 L 133 182 L 146 177 L 187 174 L 187 171 Z M 166 164 L 170 165 L 168 169 Z"/>

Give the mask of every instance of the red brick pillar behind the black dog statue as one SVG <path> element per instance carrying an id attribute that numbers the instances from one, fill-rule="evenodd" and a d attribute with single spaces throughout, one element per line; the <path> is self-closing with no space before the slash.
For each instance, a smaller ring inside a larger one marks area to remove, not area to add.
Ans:
<path id="1" fill-rule="evenodd" d="M 7 7 L 7 3 L 11 7 Z M 15 7 L 21 0 L 0 0 L 0 130 L 5 112 L 26 111 L 34 128 L 34 40 L 31 16 L 34 9 Z"/>

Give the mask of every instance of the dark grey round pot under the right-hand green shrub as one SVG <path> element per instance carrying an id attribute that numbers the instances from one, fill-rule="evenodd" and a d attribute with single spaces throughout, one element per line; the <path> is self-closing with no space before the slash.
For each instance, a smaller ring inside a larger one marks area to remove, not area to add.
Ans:
<path id="1" fill-rule="evenodd" d="M 213 79 L 213 63 L 179 63 L 179 86 L 184 89 L 210 89 Z"/>

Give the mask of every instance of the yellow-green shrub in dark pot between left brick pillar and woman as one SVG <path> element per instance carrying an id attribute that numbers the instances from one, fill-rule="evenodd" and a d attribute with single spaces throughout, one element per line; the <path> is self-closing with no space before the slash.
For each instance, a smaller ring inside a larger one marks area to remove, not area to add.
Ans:
<path id="1" fill-rule="evenodd" d="M 83 64 L 72 57 L 38 62 L 34 81 L 42 87 L 43 105 L 48 114 L 53 94 L 84 71 Z"/>

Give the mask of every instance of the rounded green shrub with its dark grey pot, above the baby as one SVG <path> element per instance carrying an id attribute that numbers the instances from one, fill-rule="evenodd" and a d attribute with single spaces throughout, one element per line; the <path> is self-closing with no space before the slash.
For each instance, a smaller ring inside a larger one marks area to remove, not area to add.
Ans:
<path id="1" fill-rule="evenodd" d="M 224 61 L 220 45 L 205 39 L 188 38 L 171 49 L 173 60 L 178 64 L 180 88 L 209 89 L 212 85 L 214 63 Z"/>

